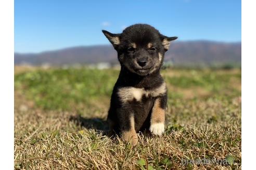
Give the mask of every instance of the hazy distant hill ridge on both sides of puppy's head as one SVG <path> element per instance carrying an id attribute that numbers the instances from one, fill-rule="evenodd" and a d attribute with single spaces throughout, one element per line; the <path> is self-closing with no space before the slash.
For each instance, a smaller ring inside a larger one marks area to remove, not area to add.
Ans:
<path id="1" fill-rule="evenodd" d="M 41 53 L 15 53 L 15 65 L 72 65 L 99 62 L 118 63 L 110 45 L 71 47 Z M 174 65 L 241 64 L 241 43 L 214 41 L 176 41 L 165 54 L 165 62 Z"/>

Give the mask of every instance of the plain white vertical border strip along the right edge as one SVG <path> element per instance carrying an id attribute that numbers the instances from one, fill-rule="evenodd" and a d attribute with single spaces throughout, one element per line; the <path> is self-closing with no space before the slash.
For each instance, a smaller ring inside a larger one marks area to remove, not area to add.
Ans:
<path id="1" fill-rule="evenodd" d="M 242 1 L 242 168 L 254 167 L 256 124 L 255 1 Z"/>

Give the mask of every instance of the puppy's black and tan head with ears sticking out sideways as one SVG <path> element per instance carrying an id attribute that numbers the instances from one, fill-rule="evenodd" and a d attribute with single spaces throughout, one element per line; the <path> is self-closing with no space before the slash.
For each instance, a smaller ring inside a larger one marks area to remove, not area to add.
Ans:
<path id="1" fill-rule="evenodd" d="M 121 34 L 112 34 L 105 30 L 103 33 L 117 50 L 120 64 L 140 76 L 159 70 L 170 42 L 177 39 L 160 34 L 147 24 L 131 25 Z"/>

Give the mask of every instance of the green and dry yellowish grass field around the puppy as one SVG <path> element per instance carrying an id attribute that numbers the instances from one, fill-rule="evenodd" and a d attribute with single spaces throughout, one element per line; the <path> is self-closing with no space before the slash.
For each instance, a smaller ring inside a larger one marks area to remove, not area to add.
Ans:
<path id="1" fill-rule="evenodd" d="M 169 90 L 165 133 L 140 133 L 132 147 L 106 133 L 118 70 L 16 67 L 15 168 L 240 169 L 241 70 L 162 75 Z"/>

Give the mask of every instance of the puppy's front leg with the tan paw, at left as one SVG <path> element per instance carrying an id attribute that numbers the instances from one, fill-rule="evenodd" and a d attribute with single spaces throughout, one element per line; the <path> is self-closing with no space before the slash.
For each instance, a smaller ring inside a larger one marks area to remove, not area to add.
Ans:
<path id="1" fill-rule="evenodd" d="M 127 109 L 118 111 L 118 120 L 121 128 L 121 133 L 125 141 L 129 141 L 132 145 L 138 143 L 138 136 L 135 131 L 134 113 Z"/>

